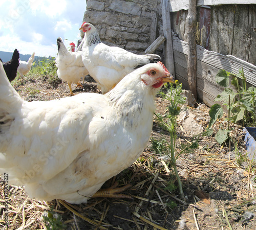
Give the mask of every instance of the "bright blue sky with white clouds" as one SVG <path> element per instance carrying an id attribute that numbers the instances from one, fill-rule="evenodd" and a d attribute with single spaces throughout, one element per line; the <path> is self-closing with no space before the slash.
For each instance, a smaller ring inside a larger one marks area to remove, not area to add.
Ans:
<path id="1" fill-rule="evenodd" d="M 86 0 L 1 0 L 0 51 L 56 57 L 58 37 L 66 47 L 81 39 Z"/>

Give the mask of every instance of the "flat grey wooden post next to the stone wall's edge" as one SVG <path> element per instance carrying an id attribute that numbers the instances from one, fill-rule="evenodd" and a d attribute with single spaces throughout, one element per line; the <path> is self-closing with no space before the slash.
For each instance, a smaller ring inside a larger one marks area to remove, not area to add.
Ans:
<path id="1" fill-rule="evenodd" d="M 170 27 L 170 8 L 169 0 L 161 0 L 163 17 L 163 35 L 165 37 L 165 66 L 169 73 L 175 78 L 174 52 L 172 30 Z"/>

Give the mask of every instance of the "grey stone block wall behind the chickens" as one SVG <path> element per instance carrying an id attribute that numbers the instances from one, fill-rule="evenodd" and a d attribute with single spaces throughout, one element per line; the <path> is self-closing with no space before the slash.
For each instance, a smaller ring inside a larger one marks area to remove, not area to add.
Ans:
<path id="1" fill-rule="evenodd" d="M 97 28 L 103 43 L 143 54 L 162 34 L 161 0 L 87 0 L 83 21 Z"/>

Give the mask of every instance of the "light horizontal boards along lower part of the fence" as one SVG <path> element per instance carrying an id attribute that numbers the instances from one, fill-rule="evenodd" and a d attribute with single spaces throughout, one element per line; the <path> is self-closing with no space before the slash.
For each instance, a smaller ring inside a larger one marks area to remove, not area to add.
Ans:
<path id="1" fill-rule="evenodd" d="M 188 89 L 187 81 L 187 42 L 181 41 L 173 36 L 174 61 L 176 79 L 178 79 L 185 89 Z M 197 45 L 197 96 L 206 105 L 215 103 L 217 95 L 222 93 L 223 87 L 215 81 L 215 76 L 220 69 L 228 72 L 238 73 L 243 66 L 247 82 L 256 86 L 256 66 L 234 56 L 221 55 L 216 52 L 205 50 Z M 251 85 L 249 84 L 249 86 Z M 231 84 L 230 84 L 231 85 Z M 233 88 L 233 87 L 232 87 Z"/>

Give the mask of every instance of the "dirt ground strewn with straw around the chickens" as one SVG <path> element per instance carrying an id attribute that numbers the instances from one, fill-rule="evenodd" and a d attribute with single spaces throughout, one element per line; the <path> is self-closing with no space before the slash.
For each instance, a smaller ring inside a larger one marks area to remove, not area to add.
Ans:
<path id="1" fill-rule="evenodd" d="M 88 80 L 89 81 L 89 80 Z M 48 101 L 69 97 L 66 82 L 53 87 L 48 77 L 25 77 L 23 84 L 14 81 L 14 88 L 27 101 Z M 94 82 L 85 82 L 83 89 L 100 93 Z M 158 113 L 165 114 L 168 102 L 156 98 Z M 209 122 L 209 108 L 197 103 L 187 106 L 178 120 L 177 151 L 179 146 L 193 141 Z M 140 158 L 115 178 L 106 181 L 108 188 L 131 184 L 124 194 L 131 199 L 93 198 L 87 204 L 74 205 L 62 200 L 51 202 L 32 199 L 23 187 L 8 185 L 9 199 L 4 199 L 4 181 L 0 181 L 0 228 L 4 224 L 4 204 L 8 202 L 8 229 L 47 229 L 43 215 L 54 213 L 66 226 L 49 229 L 256 229 L 256 200 L 254 163 L 246 158 L 243 127 L 232 124 L 231 137 L 237 146 L 219 145 L 214 135 L 222 120 L 214 126 L 212 136 L 199 139 L 193 152 L 182 153 L 177 160 L 185 201 L 181 200 L 177 180 L 168 156 L 152 150 L 152 139 Z M 162 134 L 163 133 L 163 134 Z M 153 139 L 169 136 L 154 120 Z M 50 216 L 50 215 L 48 215 Z M 51 216 L 50 216 L 51 217 Z"/>

